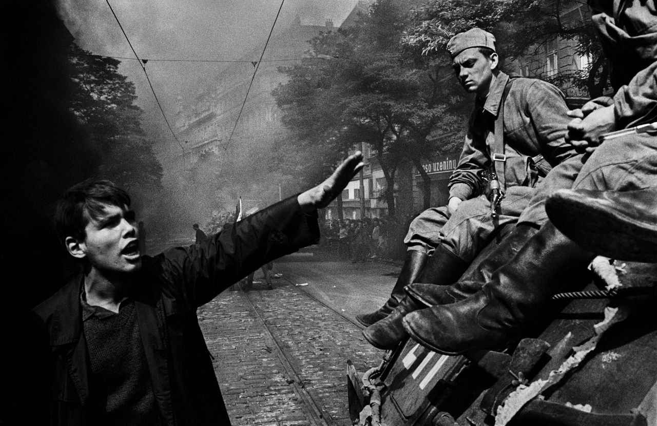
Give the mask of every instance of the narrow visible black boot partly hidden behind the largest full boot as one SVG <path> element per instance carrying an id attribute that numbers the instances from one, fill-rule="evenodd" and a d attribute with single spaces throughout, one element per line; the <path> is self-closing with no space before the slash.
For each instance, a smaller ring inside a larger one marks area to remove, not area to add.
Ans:
<path id="1" fill-rule="evenodd" d="M 487 256 L 484 255 L 483 258 L 473 262 L 470 268 L 461 275 L 461 279 L 440 293 L 431 292 L 428 298 L 425 298 L 423 293 L 426 291 L 426 287 L 416 285 L 409 285 L 406 292 L 427 306 L 450 304 L 474 295 L 484 286 L 484 283 L 490 280 L 493 272 L 507 264 L 537 232 L 538 228 L 532 225 L 514 226 L 514 229 L 499 244 L 484 249 L 490 250 Z M 430 304 L 430 302 L 435 303 Z"/>

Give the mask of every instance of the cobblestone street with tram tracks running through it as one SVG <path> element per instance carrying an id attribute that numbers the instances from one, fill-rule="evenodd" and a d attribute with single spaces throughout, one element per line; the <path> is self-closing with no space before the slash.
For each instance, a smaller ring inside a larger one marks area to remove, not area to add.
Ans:
<path id="1" fill-rule="evenodd" d="M 294 275 L 289 271 L 303 271 L 307 264 L 278 266 L 286 273 L 273 280 L 273 290 L 256 283 L 250 291 L 225 291 L 198 312 L 231 421 L 351 425 L 346 362 L 351 360 L 363 373 L 377 366 L 384 352 L 363 339 L 359 326 L 341 312 L 344 309 L 325 304 L 288 281 Z M 317 287 L 327 270 L 322 262 L 311 266 Z M 363 268 L 370 273 L 395 270 L 373 263 Z M 358 269 L 353 268 L 354 273 Z M 256 280 L 259 276 L 256 273 Z M 386 291 L 389 286 L 378 291 L 376 300 Z"/>

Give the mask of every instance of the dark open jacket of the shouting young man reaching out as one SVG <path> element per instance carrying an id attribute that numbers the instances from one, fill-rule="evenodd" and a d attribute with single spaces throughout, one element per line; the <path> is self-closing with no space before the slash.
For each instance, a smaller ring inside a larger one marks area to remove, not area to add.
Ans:
<path id="1" fill-rule="evenodd" d="M 316 214 L 286 199 L 211 237 L 200 247 L 143 256 L 129 297 L 160 414 L 166 425 L 230 425 L 196 308 L 261 265 L 319 239 Z M 98 401 L 89 387 L 81 320 L 83 277 L 34 309 L 51 361 L 51 423 L 85 425 Z M 45 357 L 48 359 L 48 357 Z"/>

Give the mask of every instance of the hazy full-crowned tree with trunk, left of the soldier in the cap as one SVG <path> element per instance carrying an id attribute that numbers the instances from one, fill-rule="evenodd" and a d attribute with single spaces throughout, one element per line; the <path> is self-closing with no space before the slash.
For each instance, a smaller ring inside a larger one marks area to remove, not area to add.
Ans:
<path id="1" fill-rule="evenodd" d="M 391 215 L 399 165 L 411 162 L 422 169 L 421 160 L 441 148 L 426 136 L 455 122 L 448 105 L 455 99 L 442 96 L 435 64 L 408 55 L 399 43 L 413 4 L 379 0 L 354 28 L 316 37 L 313 59 L 281 68 L 290 80 L 274 94 L 295 143 L 332 147 L 334 153 L 359 142 L 373 147 Z M 425 189 L 428 204 L 429 185 Z"/>

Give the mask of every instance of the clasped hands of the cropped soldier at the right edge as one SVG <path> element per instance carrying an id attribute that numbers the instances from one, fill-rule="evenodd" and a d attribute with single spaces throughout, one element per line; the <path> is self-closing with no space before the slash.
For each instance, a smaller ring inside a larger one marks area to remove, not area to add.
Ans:
<path id="1" fill-rule="evenodd" d="M 568 123 L 566 142 L 570 143 L 578 153 L 585 154 L 584 160 L 586 160 L 600 145 L 600 136 L 614 131 L 615 128 L 614 106 L 602 106 L 591 110 L 583 117 L 573 118 Z"/>

